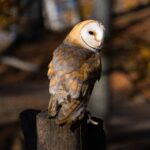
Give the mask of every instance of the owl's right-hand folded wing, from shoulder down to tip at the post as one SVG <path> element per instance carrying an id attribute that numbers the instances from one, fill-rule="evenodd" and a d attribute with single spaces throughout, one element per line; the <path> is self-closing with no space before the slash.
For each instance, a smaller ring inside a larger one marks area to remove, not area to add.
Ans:
<path id="1" fill-rule="evenodd" d="M 65 87 L 71 101 L 64 103 L 57 116 L 58 124 L 73 122 L 79 119 L 85 111 L 90 99 L 95 81 L 100 78 L 101 67 L 93 69 L 92 65 L 83 64 L 79 71 L 65 75 Z"/>

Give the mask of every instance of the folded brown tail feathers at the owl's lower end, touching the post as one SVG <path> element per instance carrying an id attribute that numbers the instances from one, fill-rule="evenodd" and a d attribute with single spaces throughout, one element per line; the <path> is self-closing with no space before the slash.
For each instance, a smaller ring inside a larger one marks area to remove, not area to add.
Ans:
<path id="1" fill-rule="evenodd" d="M 59 109 L 57 124 L 64 125 L 66 123 L 72 123 L 84 114 L 83 111 L 84 107 L 78 100 L 72 100 L 71 102 L 64 103 Z"/>

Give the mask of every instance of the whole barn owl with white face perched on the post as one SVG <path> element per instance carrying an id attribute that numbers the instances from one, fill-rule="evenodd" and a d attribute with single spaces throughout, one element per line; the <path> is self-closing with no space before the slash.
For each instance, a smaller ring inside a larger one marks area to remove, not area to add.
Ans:
<path id="1" fill-rule="evenodd" d="M 96 80 L 100 79 L 100 51 L 104 26 L 95 20 L 78 23 L 55 49 L 48 68 L 48 113 L 59 125 L 80 120 Z"/>

